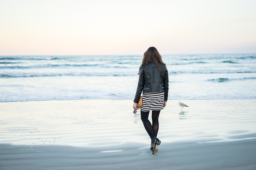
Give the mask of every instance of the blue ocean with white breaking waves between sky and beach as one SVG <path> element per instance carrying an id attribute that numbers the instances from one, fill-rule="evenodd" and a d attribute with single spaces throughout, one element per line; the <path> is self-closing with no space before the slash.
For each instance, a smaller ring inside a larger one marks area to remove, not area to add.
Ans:
<path id="1" fill-rule="evenodd" d="M 0 56 L 0 102 L 133 99 L 142 55 Z M 162 55 L 168 99 L 256 99 L 256 54 Z"/>

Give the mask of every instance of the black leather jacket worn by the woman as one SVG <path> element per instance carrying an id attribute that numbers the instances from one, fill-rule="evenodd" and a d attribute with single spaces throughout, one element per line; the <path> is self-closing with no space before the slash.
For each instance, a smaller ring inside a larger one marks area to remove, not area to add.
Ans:
<path id="1" fill-rule="evenodd" d="M 153 61 L 146 66 L 141 65 L 138 87 L 135 98 L 133 100 L 134 103 L 138 103 L 142 90 L 143 93 L 155 93 L 164 91 L 165 101 L 167 101 L 169 89 L 168 71 L 166 65 L 162 66 L 159 64 L 159 67 L 163 68 L 162 73 L 156 69 Z"/>

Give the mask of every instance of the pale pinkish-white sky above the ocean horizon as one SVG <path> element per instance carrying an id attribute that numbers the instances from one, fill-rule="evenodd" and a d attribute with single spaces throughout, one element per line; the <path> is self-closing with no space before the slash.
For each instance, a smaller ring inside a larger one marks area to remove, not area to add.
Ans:
<path id="1" fill-rule="evenodd" d="M 0 0 L 0 55 L 256 53 L 256 0 Z"/>

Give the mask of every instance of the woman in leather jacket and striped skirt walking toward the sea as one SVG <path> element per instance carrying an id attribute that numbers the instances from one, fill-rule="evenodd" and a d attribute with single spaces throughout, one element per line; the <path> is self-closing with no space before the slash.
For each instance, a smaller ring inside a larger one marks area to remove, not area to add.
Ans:
<path id="1" fill-rule="evenodd" d="M 141 120 L 151 138 L 153 154 L 158 151 L 161 141 L 156 138 L 158 132 L 158 117 L 161 109 L 166 106 L 168 98 L 169 80 L 168 71 L 162 57 L 155 47 L 150 47 L 143 55 L 142 65 L 139 68 L 139 82 L 134 98 L 133 108 L 136 107 L 142 95 Z M 149 112 L 152 111 L 152 125 L 148 120 Z"/>

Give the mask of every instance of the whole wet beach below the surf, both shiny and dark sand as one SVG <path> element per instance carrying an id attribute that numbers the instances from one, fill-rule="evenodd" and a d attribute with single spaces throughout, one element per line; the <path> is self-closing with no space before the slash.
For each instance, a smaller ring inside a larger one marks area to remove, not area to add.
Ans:
<path id="1" fill-rule="evenodd" d="M 2 102 L 0 169 L 256 169 L 255 99 L 167 104 L 152 155 L 132 100 Z"/>

